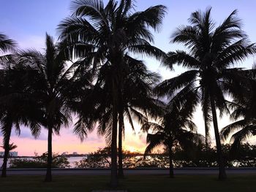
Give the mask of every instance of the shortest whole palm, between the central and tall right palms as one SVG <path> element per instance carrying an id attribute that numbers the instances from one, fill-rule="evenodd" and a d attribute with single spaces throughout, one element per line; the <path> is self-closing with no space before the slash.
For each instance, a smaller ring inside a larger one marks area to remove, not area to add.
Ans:
<path id="1" fill-rule="evenodd" d="M 145 155 L 151 153 L 155 147 L 164 145 L 169 153 L 170 162 L 170 177 L 173 175 L 173 150 L 176 147 L 181 147 L 184 150 L 192 149 L 192 146 L 200 141 L 200 137 L 195 133 L 196 126 L 192 122 L 192 108 L 188 108 L 189 104 L 177 106 L 170 104 L 159 123 L 147 122 L 142 126 L 143 131 L 152 131 L 152 134 L 147 135 L 148 146 L 145 150 Z"/>

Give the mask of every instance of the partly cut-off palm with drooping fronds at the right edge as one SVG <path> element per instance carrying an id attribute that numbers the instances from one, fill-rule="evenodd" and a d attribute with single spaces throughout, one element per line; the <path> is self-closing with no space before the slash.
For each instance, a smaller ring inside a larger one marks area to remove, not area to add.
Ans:
<path id="1" fill-rule="evenodd" d="M 231 152 L 236 152 L 240 147 L 241 142 L 246 141 L 249 137 L 256 134 L 256 71 L 255 66 L 251 70 L 241 72 L 241 77 L 244 77 L 243 89 L 239 90 L 242 97 L 238 97 L 229 102 L 233 112 L 230 114 L 230 119 L 235 122 L 222 128 L 220 136 L 222 140 L 227 140 L 231 136 L 230 142 L 233 142 Z"/>

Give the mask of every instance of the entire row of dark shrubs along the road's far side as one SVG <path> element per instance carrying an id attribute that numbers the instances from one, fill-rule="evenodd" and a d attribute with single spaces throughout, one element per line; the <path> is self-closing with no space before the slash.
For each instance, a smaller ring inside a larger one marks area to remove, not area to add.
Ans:
<path id="1" fill-rule="evenodd" d="M 232 145 L 222 145 L 225 166 L 230 167 L 254 167 L 256 166 L 256 145 L 244 143 L 239 150 L 233 150 Z M 66 155 L 53 153 L 53 168 L 86 168 L 86 169 L 110 169 L 111 150 L 110 147 L 99 148 L 87 155 L 81 155 L 81 160 L 72 164 Z M 149 155 L 124 150 L 123 168 L 170 168 L 168 151 L 158 150 Z M 47 153 L 38 155 L 35 153 L 33 158 L 10 158 L 10 168 L 12 169 L 35 169 L 47 167 Z M 197 145 L 187 150 L 176 147 L 173 150 L 173 166 L 180 167 L 217 167 L 217 148 Z M 173 173 L 173 172 L 170 172 Z M 170 175 L 174 177 L 174 175 Z"/>

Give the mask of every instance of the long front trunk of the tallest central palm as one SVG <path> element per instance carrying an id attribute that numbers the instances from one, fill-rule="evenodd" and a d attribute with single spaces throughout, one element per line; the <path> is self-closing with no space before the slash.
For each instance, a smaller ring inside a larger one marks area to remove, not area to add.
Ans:
<path id="1" fill-rule="evenodd" d="M 111 180 L 110 185 L 116 188 L 118 185 L 117 178 L 117 100 L 118 100 L 118 90 L 115 80 L 113 80 L 113 109 L 112 109 L 112 137 L 111 137 Z"/>

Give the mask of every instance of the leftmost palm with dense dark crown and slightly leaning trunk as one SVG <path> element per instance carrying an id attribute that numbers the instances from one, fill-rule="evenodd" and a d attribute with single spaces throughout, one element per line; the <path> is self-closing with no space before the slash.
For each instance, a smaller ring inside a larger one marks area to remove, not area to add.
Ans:
<path id="1" fill-rule="evenodd" d="M 7 177 L 7 161 L 12 128 L 20 134 L 20 124 L 29 126 L 34 137 L 38 136 L 39 124 L 37 101 L 28 90 L 28 78 L 31 70 L 24 66 L 9 66 L 1 69 L 0 80 L 0 122 L 3 135 L 4 161 L 1 177 Z"/>

